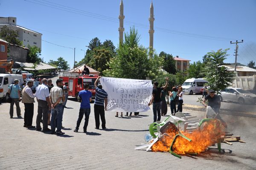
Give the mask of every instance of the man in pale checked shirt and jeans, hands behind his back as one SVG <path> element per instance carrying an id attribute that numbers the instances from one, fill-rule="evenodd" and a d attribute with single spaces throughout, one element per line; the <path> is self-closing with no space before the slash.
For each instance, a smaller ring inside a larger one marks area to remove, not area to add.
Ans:
<path id="1" fill-rule="evenodd" d="M 49 100 L 51 103 L 52 108 L 52 118 L 51 118 L 51 134 L 57 133 L 58 135 L 65 134 L 64 132 L 61 132 L 61 126 L 62 126 L 62 116 L 63 116 L 63 107 L 62 107 L 62 96 L 63 91 L 61 89 L 62 86 L 62 79 L 57 79 L 55 87 L 53 87 L 50 91 Z M 57 118 L 57 130 L 55 132 L 55 120 Z"/>

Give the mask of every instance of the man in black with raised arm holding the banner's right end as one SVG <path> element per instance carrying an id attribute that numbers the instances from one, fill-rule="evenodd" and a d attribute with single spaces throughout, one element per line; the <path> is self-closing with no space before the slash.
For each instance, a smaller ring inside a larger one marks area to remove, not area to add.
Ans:
<path id="1" fill-rule="evenodd" d="M 160 94 L 164 88 L 167 88 L 168 80 L 169 80 L 169 78 L 166 77 L 166 84 L 161 88 L 158 87 L 158 82 L 154 82 L 152 98 L 151 98 L 150 102 L 148 103 L 148 106 L 150 106 L 153 103 L 154 122 L 161 120 L 161 112 L 160 111 L 161 111 L 162 100 L 160 98 Z"/>

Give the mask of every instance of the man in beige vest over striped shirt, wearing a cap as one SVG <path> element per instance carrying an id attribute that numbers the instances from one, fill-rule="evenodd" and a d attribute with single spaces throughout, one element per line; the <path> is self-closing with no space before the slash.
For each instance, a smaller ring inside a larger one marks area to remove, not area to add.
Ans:
<path id="1" fill-rule="evenodd" d="M 24 126 L 27 128 L 35 128 L 32 126 L 33 116 L 34 116 L 34 102 L 35 102 L 35 95 L 33 94 L 31 87 L 33 86 L 33 80 L 29 80 L 27 85 L 22 90 L 22 100 L 21 102 L 24 103 L 25 106 L 25 113 L 24 113 Z"/>

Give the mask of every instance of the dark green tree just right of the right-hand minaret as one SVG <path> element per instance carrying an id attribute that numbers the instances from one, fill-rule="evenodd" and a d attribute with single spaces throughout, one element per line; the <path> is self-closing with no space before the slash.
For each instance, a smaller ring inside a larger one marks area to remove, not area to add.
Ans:
<path id="1" fill-rule="evenodd" d="M 160 52 L 159 57 L 163 58 L 163 69 L 170 74 L 175 74 L 176 67 L 175 67 L 175 60 L 172 57 L 172 54 L 167 54 L 165 52 Z"/>

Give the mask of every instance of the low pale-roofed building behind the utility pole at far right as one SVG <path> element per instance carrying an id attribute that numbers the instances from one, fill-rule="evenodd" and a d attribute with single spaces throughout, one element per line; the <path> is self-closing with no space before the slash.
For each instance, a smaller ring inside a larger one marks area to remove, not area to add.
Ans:
<path id="1" fill-rule="evenodd" d="M 225 65 L 228 71 L 235 71 L 235 65 Z M 237 76 L 253 76 L 256 75 L 256 69 L 247 66 L 236 66 Z"/>

